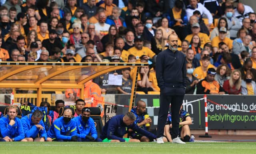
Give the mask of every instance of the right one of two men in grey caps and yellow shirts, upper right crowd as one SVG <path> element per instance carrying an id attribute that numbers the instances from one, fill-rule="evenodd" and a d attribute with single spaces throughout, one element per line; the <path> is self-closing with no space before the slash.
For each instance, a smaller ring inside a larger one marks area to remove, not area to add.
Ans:
<path id="1" fill-rule="evenodd" d="M 219 36 L 216 36 L 212 39 L 212 48 L 213 54 L 218 52 L 219 43 L 224 42 L 228 45 L 228 48 L 231 50 L 233 47 L 233 41 L 230 38 L 227 38 L 227 29 L 225 27 L 221 27 L 219 30 Z"/>

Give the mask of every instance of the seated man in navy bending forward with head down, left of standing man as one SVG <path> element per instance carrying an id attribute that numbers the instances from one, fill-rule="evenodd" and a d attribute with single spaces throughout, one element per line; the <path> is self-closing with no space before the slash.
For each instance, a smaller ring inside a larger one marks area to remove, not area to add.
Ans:
<path id="1" fill-rule="evenodd" d="M 138 139 L 123 138 L 124 134 L 128 133 L 129 129 L 147 136 L 148 138 L 156 138 L 156 135 L 134 124 L 135 120 L 136 116 L 132 112 L 112 117 L 103 127 L 102 134 L 100 135 L 102 142 L 140 142 Z"/>

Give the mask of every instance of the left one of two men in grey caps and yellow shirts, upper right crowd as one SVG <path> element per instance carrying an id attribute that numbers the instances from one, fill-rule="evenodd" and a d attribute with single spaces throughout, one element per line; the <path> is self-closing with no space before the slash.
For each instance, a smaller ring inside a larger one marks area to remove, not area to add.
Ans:
<path id="1" fill-rule="evenodd" d="M 192 34 L 186 36 L 185 38 L 187 41 L 191 42 L 192 37 L 194 35 L 198 35 L 201 40 L 201 46 L 200 46 L 201 48 L 204 48 L 205 43 L 211 42 L 207 34 L 200 32 L 200 25 L 198 23 L 192 24 L 191 31 L 192 31 Z"/>

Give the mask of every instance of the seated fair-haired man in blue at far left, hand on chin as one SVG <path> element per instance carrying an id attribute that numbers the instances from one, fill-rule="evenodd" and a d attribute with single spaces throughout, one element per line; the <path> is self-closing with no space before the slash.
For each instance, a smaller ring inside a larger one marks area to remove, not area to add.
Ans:
<path id="1" fill-rule="evenodd" d="M 16 106 L 9 106 L 7 108 L 7 115 L 0 118 L 0 141 L 12 142 L 23 141 L 25 135 L 22 127 L 22 123 L 17 118 L 18 108 Z"/>

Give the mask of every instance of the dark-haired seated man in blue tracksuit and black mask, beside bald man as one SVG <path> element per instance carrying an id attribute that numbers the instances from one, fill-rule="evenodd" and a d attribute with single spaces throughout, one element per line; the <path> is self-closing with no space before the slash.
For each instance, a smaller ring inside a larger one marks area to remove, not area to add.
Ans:
<path id="1" fill-rule="evenodd" d="M 74 118 L 77 126 L 77 136 L 81 138 L 81 141 L 83 142 L 102 142 L 102 140 L 98 138 L 94 120 L 90 118 L 90 112 L 90 108 L 84 107 L 82 109 L 82 114 Z"/>

